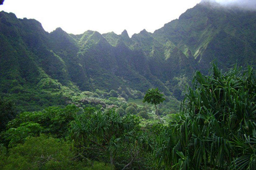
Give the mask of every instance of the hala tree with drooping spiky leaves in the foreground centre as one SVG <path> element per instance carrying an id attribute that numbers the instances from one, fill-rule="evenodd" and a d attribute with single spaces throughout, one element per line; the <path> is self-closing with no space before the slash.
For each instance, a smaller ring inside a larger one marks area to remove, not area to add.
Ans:
<path id="1" fill-rule="evenodd" d="M 71 122 L 70 138 L 83 150 L 105 153 L 113 167 L 117 155 L 130 151 L 131 160 L 123 169 L 138 159 L 142 151 L 152 151 L 151 138 L 143 134 L 139 119 L 130 114 L 121 117 L 114 110 L 86 108 Z"/>

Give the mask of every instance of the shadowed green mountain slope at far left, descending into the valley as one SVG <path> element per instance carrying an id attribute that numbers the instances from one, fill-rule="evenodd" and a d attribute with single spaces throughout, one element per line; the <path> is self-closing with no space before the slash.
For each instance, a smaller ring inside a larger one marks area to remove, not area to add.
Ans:
<path id="1" fill-rule="evenodd" d="M 66 105 L 70 93 L 79 91 L 63 60 L 48 49 L 47 36 L 36 20 L 0 13 L 0 90 L 24 110 Z"/>

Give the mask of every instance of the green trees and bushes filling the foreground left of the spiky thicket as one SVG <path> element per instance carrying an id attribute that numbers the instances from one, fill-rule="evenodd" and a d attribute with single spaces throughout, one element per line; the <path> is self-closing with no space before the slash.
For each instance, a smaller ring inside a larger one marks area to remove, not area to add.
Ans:
<path id="1" fill-rule="evenodd" d="M 23 112 L 0 136 L 3 169 L 149 168 L 154 163 L 147 162 L 154 142 L 141 130 L 139 118 L 121 117 L 113 109 L 68 105 Z"/>

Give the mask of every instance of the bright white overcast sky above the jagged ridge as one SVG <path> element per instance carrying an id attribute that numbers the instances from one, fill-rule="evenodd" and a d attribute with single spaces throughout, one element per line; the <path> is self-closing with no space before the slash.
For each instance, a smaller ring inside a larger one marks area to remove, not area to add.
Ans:
<path id="1" fill-rule="evenodd" d="M 224 5 L 256 2 L 216 1 Z M 132 36 L 143 29 L 153 33 L 199 2 L 201 0 L 5 0 L 0 11 L 12 12 L 18 18 L 36 19 L 48 32 L 61 27 L 73 34 L 86 30 L 121 34 L 126 29 Z"/>

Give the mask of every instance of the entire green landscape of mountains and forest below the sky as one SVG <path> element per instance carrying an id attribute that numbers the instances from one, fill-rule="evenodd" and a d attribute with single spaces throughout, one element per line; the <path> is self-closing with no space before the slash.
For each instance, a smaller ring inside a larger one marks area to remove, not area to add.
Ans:
<path id="1" fill-rule="evenodd" d="M 256 169 L 256 11 L 154 33 L 48 33 L 0 12 L 0 169 Z"/>

